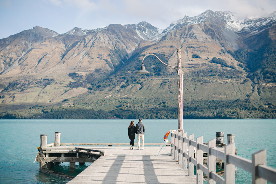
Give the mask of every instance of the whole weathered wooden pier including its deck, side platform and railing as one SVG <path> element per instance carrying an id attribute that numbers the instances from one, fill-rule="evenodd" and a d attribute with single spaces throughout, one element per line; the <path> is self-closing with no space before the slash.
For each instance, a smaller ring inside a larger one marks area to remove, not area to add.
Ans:
<path id="1" fill-rule="evenodd" d="M 51 144 L 47 144 L 47 135 L 41 135 L 36 161 L 39 171 L 68 179 L 69 183 L 203 183 L 206 174 L 208 183 L 230 184 L 235 183 L 235 167 L 252 173 L 254 184 L 276 183 L 276 170 L 266 166 L 266 150 L 253 153 L 252 161 L 239 157 L 233 136 L 228 134 L 227 145 L 222 144 L 220 136 L 203 144 L 202 136 L 195 141 L 193 134 L 176 131 L 171 134 L 170 146 L 145 144 L 150 146 L 138 150 L 120 146 L 128 144 L 60 143 L 60 132 L 55 132 L 55 143 Z M 216 173 L 218 159 L 224 162 L 224 178 Z M 94 163 L 72 179 L 50 170 L 53 163 L 60 162 L 69 162 L 70 171 L 75 170 L 76 162 Z"/>

